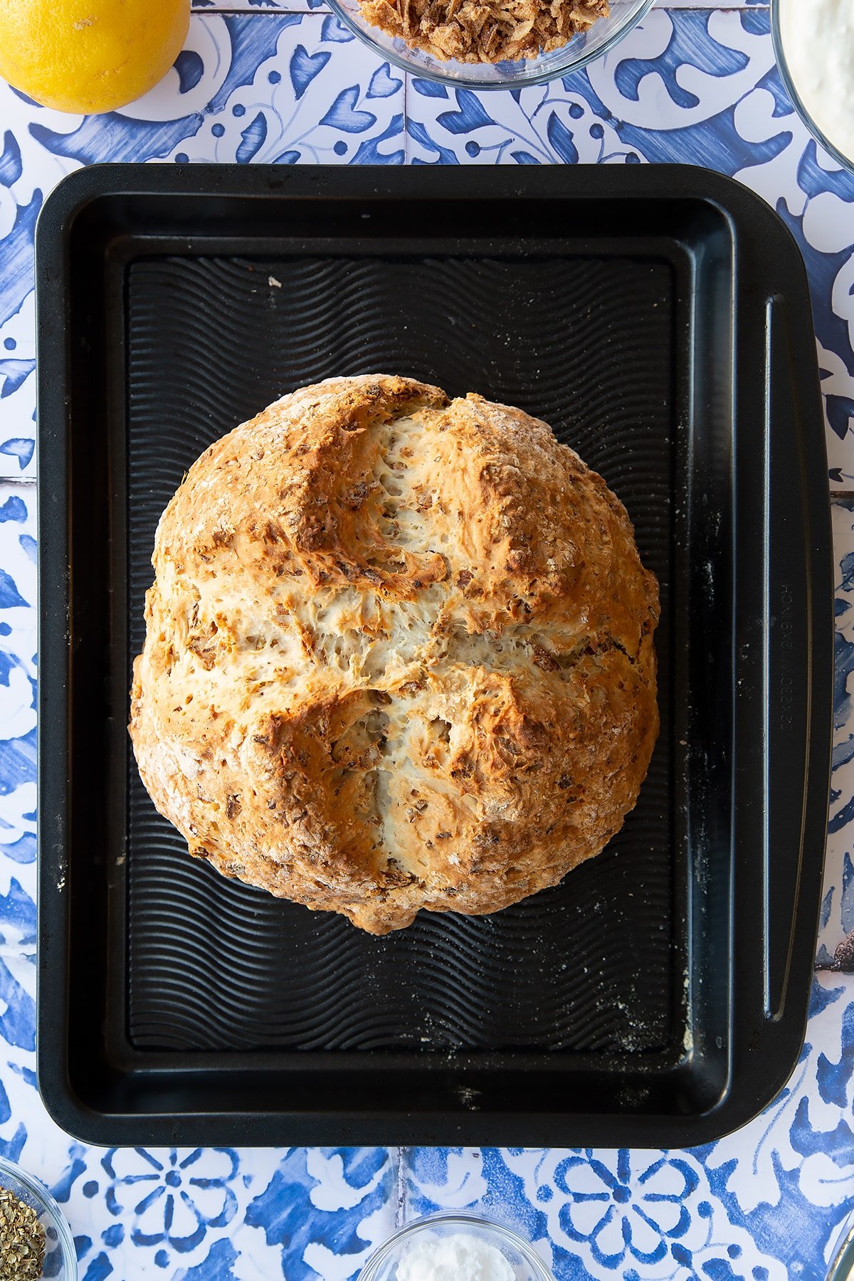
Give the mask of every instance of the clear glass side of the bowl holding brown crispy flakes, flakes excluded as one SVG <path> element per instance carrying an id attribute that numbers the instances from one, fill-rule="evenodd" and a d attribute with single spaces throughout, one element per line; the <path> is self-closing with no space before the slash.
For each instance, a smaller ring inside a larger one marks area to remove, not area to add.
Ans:
<path id="1" fill-rule="evenodd" d="M 588 31 L 579 33 L 551 54 L 520 59 L 517 63 L 443 61 L 421 49 L 410 49 L 405 41 L 374 27 L 359 6 L 359 0 L 329 0 L 333 12 L 346 27 L 389 63 L 424 79 L 442 81 L 460 88 L 522 88 L 542 85 L 556 76 L 577 72 L 593 58 L 613 49 L 652 9 L 654 0 L 611 0 L 611 13 L 598 18 Z"/>

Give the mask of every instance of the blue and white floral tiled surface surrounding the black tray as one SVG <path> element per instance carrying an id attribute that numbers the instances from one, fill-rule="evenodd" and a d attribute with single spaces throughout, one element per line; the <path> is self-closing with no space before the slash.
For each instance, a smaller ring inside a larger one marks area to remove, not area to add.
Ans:
<path id="1" fill-rule="evenodd" d="M 97 1149 L 59 1131 L 41 1106 L 32 243 L 46 193 L 93 161 L 680 160 L 734 174 L 781 213 L 813 288 L 837 491 L 819 963 L 854 963 L 854 498 L 845 496 L 854 493 L 854 179 L 793 115 L 766 8 L 673 0 L 585 73 L 484 95 L 405 77 L 316 0 L 196 0 L 195 9 L 175 69 L 123 111 L 60 115 L 0 83 L 0 1152 L 52 1187 L 82 1281 L 351 1281 L 396 1223 L 439 1205 L 510 1218 L 558 1281 L 821 1281 L 854 1205 L 854 977 L 839 972 L 817 976 L 786 1091 L 736 1135 L 690 1152 Z"/>

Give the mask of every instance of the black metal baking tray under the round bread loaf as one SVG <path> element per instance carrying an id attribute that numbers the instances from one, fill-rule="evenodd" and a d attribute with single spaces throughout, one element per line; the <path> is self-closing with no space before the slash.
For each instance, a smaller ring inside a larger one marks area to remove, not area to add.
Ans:
<path id="1" fill-rule="evenodd" d="M 38 1084 L 99 1144 L 685 1146 L 802 1047 L 832 569 L 807 279 L 695 168 L 110 165 L 36 237 Z M 384 939 L 227 881 L 137 778 L 157 516 L 284 391 L 405 373 L 520 405 L 662 592 L 636 810 L 562 885 Z"/>

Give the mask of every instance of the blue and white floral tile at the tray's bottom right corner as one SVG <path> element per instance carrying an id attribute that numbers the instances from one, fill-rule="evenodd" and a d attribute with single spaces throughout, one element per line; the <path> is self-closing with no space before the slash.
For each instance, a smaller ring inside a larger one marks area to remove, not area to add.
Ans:
<path id="1" fill-rule="evenodd" d="M 819 1281 L 854 1204 L 853 1026 L 854 980 L 817 979 L 786 1090 L 703 1148 L 406 1150 L 406 1218 L 479 1208 L 534 1241 L 558 1281 Z"/>

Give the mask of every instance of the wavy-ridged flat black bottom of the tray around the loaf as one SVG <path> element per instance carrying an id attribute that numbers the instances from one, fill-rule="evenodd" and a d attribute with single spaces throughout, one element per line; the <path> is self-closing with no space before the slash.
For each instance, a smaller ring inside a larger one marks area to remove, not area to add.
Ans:
<path id="1" fill-rule="evenodd" d="M 278 283 L 277 283 L 278 282 Z M 141 260 L 128 272 L 128 632 L 157 518 L 211 441 L 293 387 L 405 373 L 544 418 L 626 503 L 658 575 L 662 738 L 607 851 L 492 917 L 373 939 L 187 856 L 128 749 L 128 1032 L 140 1049 L 609 1053 L 681 1041 L 670 582 L 673 279 L 617 257 Z"/>

